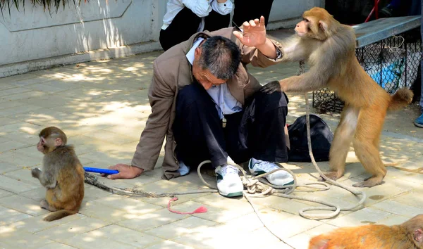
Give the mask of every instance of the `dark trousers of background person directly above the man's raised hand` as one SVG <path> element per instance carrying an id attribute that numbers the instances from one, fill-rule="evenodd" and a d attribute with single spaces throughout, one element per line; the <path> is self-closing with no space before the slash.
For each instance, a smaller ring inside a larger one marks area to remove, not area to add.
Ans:
<path id="1" fill-rule="evenodd" d="M 260 19 L 260 16 L 263 15 L 267 26 L 273 1 L 235 0 L 232 20 L 236 25 L 241 26 L 245 21 Z"/>

